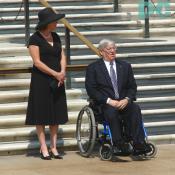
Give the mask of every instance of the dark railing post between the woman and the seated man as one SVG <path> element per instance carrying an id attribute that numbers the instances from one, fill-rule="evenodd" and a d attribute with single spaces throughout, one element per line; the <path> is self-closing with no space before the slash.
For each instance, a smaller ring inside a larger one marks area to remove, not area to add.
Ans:
<path id="1" fill-rule="evenodd" d="M 66 50 L 66 57 L 67 57 L 67 65 L 71 64 L 70 61 L 70 30 L 66 27 L 65 28 L 65 50 Z M 66 88 L 71 88 L 71 76 L 70 73 L 67 72 L 66 78 Z"/>

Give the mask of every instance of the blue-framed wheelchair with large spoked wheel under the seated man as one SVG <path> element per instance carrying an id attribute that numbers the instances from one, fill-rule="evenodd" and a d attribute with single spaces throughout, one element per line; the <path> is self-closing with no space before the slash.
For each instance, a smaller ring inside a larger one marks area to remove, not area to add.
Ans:
<path id="1" fill-rule="evenodd" d="M 80 110 L 77 118 L 76 139 L 80 155 L 83 157 L 90 157 L 95 144 L 98 142 L 100 143 L 99 155 L 101 160 L 111 160 L 114 154 L 110 127 L 106 121 L 99 120 L 101 111 L 99 112 L 99 109 L 94 110 L 92 106 L 91 102 L 89 105 L 84 106 Z M 99 128 L 99 124 L 102 124 L 102 127 Z M 139 155 L 139 157 L 148 159 L 154 158 L 157 154 L 157 147 L 154 143 L 148 141 L 145 128 L 144 132 L 145 143 L 151 148 L 151 152 Z M 133 151 L 132 141 L 127 138 L 125 140 L 131 151 Z"/>

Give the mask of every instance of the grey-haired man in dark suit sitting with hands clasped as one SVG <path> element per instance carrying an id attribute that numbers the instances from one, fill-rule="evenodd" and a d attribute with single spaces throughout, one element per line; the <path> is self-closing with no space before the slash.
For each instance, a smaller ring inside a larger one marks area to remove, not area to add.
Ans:
<path id="1" fill-rule="evenodd" d="M 103 39 L 98 48 L 102 58 L 88 66 L 85 87 L 95 105 L 101 106 L 104 119 L 109 124 L 114 154 L 130 154 L 121 123 L 125 124 L 125 130 L 132 138 L 132 154 L 149 153 L 151 148 L 145 142 L 141 109 L 134 102 L 137 85 L 131 65 L 116 59 L 115 42 Z"/>

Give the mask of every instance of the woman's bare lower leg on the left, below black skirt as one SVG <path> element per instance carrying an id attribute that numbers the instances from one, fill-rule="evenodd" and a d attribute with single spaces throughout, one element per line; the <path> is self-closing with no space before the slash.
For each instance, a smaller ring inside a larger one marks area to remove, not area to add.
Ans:
<path id="1" fill-rule="evenodd" d="M 37 135 L 40 142 L 40 152 L 44 157 L 49 156 L 49 152 L 46 145 L 45 138 L 45 126 L 44 125 L 36 125 Z"/>

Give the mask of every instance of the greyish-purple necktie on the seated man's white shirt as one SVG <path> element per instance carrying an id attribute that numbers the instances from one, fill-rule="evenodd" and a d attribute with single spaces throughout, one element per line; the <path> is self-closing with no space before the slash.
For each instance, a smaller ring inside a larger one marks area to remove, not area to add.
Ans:
<path id="1" fill-rule="evenodd" d="M 113 85 L 114 92 L 115 92 L 115 98 L 118 99 L 119 98 L 118 83 L 117 83 L 117 76 L 113 68 L 113 62 L 110 62 L 110 77 L 111 77 L 112 85 Z"/>

